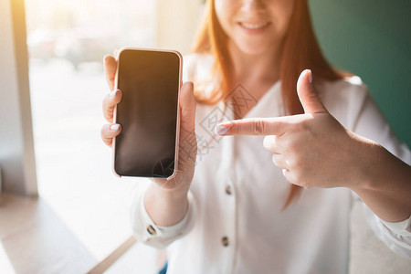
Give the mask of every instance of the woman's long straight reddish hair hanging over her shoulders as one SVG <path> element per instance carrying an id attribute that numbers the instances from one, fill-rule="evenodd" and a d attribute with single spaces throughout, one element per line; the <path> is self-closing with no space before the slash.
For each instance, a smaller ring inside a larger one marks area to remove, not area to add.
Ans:
<path id="1" fill-rule="evenodd" d="M 195 40 L 195 53 L 209 53 L 215 58 L 213 73 L 218 83 L 214 92 L 202 96 L 196 92 L 196 100 L 205 104 L 214 104 L 224 100 L 230 89 L 231 58 L 227 49 L 227 35 L 216 17 L 214 0 L 208 0 L 205 6 L 205 19 Z M 281 97 L 288 115 L 304 113 L 296 85 L 300 72 L 311 68 L 315 75 L 314 85 L 318 79 L 342 79 L 343 74 L 327 62 L 314 35 L 311 24 L 308 0 L 296 0 L 290 18 L 289 31 L 282 45 L 280 60 Z M 300 196 L 300 186 L 292 184 L 290 194 L 283 206 L 286 208 Z"/>

